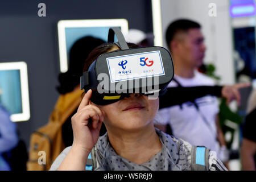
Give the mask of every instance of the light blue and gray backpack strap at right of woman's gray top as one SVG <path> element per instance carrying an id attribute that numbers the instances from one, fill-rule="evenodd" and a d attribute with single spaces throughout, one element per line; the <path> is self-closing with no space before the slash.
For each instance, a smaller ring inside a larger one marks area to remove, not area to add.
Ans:
<path id="1" fill-rule="evenodd" d="M 209 148 L 204 146 L 192 146 L 191 150 L 191 170 L 208 171 L 209 170 Z"/>

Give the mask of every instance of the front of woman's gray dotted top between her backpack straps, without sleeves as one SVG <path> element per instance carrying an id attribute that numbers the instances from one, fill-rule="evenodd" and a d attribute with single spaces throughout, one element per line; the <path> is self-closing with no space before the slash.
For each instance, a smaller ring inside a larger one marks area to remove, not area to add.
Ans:
<path id="1" fill-rule="evenodd" d="M 94 158 L 94 170 L 188 170 L 191 168 L 188 162 L 183 140 L 178 140 L 162 131 L 155 129 L 162 142 L 162 150 L 152 156 L 148 162 L 135 164 L 122 158 L 115 153 L 109 140 L 108 134 L 101 136 L 93 147 L 92 157 Z M 136 149 L 134 149 L 136 150 Z M 95 160 L 96 159 L 96 160 Z"/>

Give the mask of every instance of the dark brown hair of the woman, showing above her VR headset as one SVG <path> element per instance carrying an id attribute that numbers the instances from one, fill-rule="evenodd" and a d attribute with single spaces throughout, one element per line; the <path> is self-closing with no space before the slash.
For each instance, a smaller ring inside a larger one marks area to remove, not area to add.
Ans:
<path id="1" fill-rule="evenodd" d="M 129 48 L 139 48 L 139 46 L 134 43 L 127 43 L 127 45 Z M 96 60 L 98 56 L 100 56 L 106 52 L 109 52 L 114 47 L 117 47 L 119 49 L 119 47 L 114 43 L 104 43 L 104 44 L 101 44 L 101 46 L 94 48 L 93 51 L 89 53 L 87 59 L 85 60 L 84 72 L 88 71 L 90 64 L 92 64 L 93 61 Z"/>

